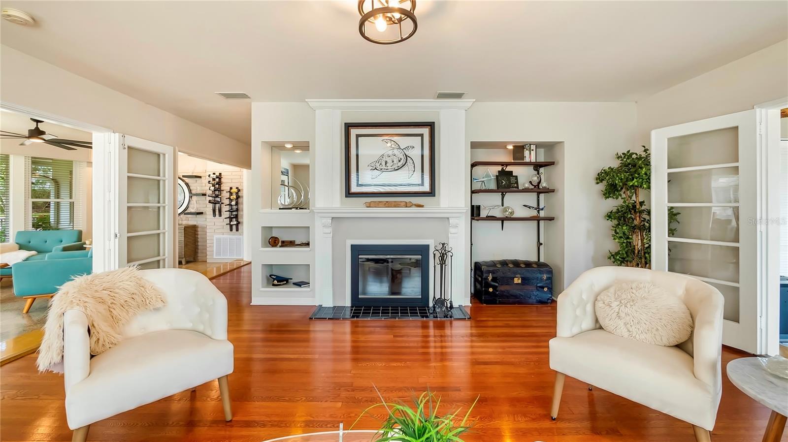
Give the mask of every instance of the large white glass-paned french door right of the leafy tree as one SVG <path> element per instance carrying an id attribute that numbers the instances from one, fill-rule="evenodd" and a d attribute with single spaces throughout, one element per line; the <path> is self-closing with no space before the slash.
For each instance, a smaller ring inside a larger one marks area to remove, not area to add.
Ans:
<path id="1" fill-rule="evenodd" d="M 656 129 L 651 143 L 652 268 L 717 288 L 723 344 L 758 352 L 755 110 Z"/>

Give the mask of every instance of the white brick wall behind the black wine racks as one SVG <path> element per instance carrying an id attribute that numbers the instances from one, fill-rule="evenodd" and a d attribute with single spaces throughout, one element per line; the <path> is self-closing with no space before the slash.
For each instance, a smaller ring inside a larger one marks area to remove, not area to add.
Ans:
<path id="1" fill-rule="evenodd" d="M 194 172 L 194 175 L 203 176 L 202 178 L 184 178 L 189 184 L 192 193 L 210 193 L 208 191 L 208 173 L 214 171 L 208 170 L 206 173 Z M 218 173 L 218 171 L 217 171 Z M 181 175 L 189 175 L 191 172 L 180 173 Z M 221 217 L 214 217 L 211 212 L 211 205 L 208 200 L 211 199 L 207 196 L 193 196 L 191 197 L 191 204 L 189 205 L 188 212 L 204 212 L 202 215 L 180 215 L 178 222 L 180 224 L 195 224 L 197 227 L 197 259 L 199 261 L 232 261 L 229 259 L 214 259 L 214 236 L 215 235 L 243 235 L 243 222 L 239 226 L 238 232 L 233 228 L 230 232 L 229 225 L 226 225 L 229 220 L 225 219 L 227 214 L 227 197 L 229 196 L 229 188 L 240 188 L 241 201 L 239 205 L 238 219 L 243 220 L 243 199 L 245 198 L 243 191 L 243 171 L 237 170 L 221 170 Z"/>

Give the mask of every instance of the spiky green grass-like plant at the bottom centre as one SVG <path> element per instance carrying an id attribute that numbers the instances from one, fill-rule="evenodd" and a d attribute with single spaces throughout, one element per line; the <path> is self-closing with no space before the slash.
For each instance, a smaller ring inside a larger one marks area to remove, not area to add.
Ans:
<path id="1" fill-rule="evenodd" d="M 377 388 L 375 390 L 377 391 Z M 380 396 L 380 392 L 377 395 Z M 463 442 L 459 436 L 470 429 L 466 422 L 470 410 L 474 409 L 478 400 L 477 397 L 471 404 L 463 420 L 455 423 L 460 410 L 443 416 L 438 415 L 440 398 L 432 392 L 427 391 L 414 398 L 414 407 L 401 402 L 386 403 L 381 396 L 381 403 L 364 410 L 351 428 L 364 414 L 370 414 L 370 410 L 385 407 L 388 415 L 383 419 L 379 433 L 381 438 L 376 439 L 377 442 Z"/>

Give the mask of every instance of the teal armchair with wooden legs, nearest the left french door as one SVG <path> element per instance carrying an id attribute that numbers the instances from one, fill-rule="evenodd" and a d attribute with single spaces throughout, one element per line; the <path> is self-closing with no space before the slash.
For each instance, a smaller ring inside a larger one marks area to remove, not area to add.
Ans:
<path id="1" fill-rule="evenodd" d="M 22 313 L 28 313 L 35 299 L 51 298 L 69 280 L 92 273 L 93 251 L 54 251 L 45 259 L 17 262 L 11 269 L 13 294 L 27 299 Z"/>

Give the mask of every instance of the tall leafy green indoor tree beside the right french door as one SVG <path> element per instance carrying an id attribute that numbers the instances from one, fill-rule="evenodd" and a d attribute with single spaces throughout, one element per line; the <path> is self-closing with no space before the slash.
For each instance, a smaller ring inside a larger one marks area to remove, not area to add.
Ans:
<path id="1" fill-rule="evenodd" d="M 604 184 L 604 199 L 622 200 L 605 214 L 612 223 L 612 237 L 619 250 L 610 251 L 608 259 L 616 266 L 651 268 L 651 211 L 641 199 L 641 190 L 651 190 L 651 155 L 643 146 L 641 152 L 626 150 L 615 154 L 619 165 L 608 166 L 597 173 L 597 184 Z M 668 231 L 678 223 L 672 207 L 667 210 Z"/>

